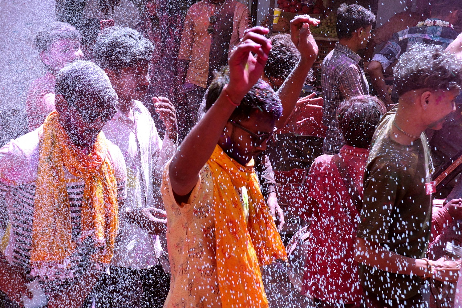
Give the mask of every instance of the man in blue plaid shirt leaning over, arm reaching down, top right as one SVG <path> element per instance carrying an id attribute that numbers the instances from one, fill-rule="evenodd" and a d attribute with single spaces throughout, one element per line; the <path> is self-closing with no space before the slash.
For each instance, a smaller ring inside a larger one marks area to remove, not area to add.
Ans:
<path id="1" fill-rule="evenodd" d="M 415 43 L 441 45 L 446 48 L 459 34 L 453 30 L 452 24 L 457 23 L 460 7 L 462 7 L 461 0 L 435 0 L 435 3 L 432 3 L 431 17 L 424 22 L 432 25 L 419 24 L 395 33 L 382 50 L 374 55 L 367 70 L 371 76 L 372 86 L 384 103 L 388 105 L 398 103 L 398 95 L 393 91 L 390 97 L 383 79 L 383 71 Z"/>

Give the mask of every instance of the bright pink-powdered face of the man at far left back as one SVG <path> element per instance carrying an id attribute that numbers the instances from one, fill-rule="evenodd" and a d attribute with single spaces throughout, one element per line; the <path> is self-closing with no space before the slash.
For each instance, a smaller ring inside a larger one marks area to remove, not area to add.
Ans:
<path id="1" fill-rule="evenodd" d="M 59 72 L 67 64 L 81 58 L 83 53 L 79 41 L 61 39 L 51 44 L 40 56 L 43 63 L 53 71 Z"/>

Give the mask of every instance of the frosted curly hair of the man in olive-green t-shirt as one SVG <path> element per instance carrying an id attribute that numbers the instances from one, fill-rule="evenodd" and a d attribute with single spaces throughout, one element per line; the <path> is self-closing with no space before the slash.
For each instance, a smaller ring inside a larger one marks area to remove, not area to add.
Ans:
<path id="1" fill-rule="evenodd" d="M 450 91 L 462 83 L 462 61 L 431 44 L 414 44 L 401 55 L 393 72 L 399 96 L 425 88 Z"/>

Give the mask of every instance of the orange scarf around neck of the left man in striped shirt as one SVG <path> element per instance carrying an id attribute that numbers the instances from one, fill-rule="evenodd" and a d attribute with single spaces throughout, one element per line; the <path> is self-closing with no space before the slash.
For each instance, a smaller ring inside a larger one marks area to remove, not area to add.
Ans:
<path id="1" fill-rule="evenodd" d="M 85 181 L 81 236 L 92 236 L 97 249 L 93 260 L 108 264 L 118 228 L 117 181 L 108 159 L 104 134 L 99 133 L 89 155 L 73 144 L 54 111 L 43 124 L 32 223 L 31 262 L 61 261 L 69 257 L 72 240 L 71 213 L 64 168 Z"/>

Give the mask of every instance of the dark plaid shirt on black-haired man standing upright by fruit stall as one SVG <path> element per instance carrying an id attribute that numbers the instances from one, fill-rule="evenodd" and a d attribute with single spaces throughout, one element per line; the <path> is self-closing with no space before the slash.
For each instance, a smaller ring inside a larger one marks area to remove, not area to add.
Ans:
<path id="1" fill-rule="evenodd" d="M 338 127 L 338 106 L 349 97 L 369 94 L 361 57 L 336 43 L 334 50 L 322 61 L 321 86 L 324 97 L 322 122 L 327 127 L 322 153 L 337 154 L 346 144 Z"/>

